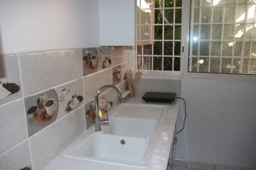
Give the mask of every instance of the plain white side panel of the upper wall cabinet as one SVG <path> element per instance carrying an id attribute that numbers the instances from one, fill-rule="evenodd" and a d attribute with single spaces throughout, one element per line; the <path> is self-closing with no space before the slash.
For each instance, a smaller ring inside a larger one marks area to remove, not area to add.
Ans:
<path id="1" fill-rule="evenodd" d="M 99 0 L 100 46 L 135 45 L 136 0 Z"/>

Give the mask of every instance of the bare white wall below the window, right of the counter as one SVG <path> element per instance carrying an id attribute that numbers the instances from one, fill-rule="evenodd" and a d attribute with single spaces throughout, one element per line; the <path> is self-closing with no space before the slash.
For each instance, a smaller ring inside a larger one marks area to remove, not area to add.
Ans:
<path id="1" fill-rule="evenodd" d="M 181 84 L 187 119 L 176 159 L 255 168 L 256 82 L 190 78 Z"/>

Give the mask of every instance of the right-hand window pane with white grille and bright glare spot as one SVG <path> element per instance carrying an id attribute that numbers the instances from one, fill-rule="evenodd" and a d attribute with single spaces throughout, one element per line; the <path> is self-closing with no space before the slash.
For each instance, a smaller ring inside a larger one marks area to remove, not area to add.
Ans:
<path id="1" fill-rule="evenodd" d="M 255 0 L 193 0 L 190 72 L 256 74 Z"/>

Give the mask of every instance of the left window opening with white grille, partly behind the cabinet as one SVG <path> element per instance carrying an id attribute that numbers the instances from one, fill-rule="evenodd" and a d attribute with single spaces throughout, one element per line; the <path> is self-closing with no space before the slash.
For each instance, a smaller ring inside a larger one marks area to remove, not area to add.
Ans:
<path id="1" fill-rule="evenodd" d="M 182 1 L 155 0 L 154 14 L 154 44 L 137 46 L 136 69 L 179 73 Z"/>

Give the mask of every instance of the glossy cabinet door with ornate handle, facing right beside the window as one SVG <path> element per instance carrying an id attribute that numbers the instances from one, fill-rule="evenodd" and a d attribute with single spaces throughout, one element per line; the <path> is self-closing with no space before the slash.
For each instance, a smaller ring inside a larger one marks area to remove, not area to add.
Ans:
<path id="1" fill-rule="evenodd" d="M 137 44 L 152 44 L 154 41 L 154 0 L 137 0 Z"/>

